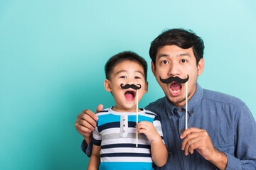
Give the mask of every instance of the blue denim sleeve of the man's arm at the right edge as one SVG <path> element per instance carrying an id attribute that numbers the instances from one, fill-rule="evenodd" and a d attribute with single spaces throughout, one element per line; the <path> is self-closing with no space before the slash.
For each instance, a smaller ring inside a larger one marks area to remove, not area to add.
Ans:
<path id="1" fill-rule="evenodd" d="M 229 169 L 256 169 L 256 122 L 247 106 L 235 116 L 235 155 L 225 153 Z"/>

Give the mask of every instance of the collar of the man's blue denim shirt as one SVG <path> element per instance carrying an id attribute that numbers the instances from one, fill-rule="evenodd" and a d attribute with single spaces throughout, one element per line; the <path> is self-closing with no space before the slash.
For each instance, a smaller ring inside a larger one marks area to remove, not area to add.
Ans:
<path id="1" fill-rule="evenodd" d="M 201 103 L 201 100 L 203 98 L 203 88 L 199 86 L 198 83 L 196 83 L 196 92 L 193 94 L 191 99 L 188 101 L 188 113 L 193 114 L 196 112 L 196 109 L 198 108 L 199 104 Z M 177 111 L 181 108 L 178 108 L 174 106 L 171 101 L 169 101 L 169 98 L 165 97 L 166 99 L 166 109 L 167 113 L 172 113 L 171 115 L 177 114 Z M 186 105 L 182 106 L 183 111 L 186 110 Z M 170 115 L 170 114 L 169 114 Z"/>

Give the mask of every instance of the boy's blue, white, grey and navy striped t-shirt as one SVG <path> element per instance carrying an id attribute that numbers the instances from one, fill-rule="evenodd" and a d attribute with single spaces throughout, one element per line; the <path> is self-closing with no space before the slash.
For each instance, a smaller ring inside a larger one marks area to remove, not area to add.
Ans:
<path id="1" fill-rule="evenodd" d="M 141 110 L 138 121 L 153 123 L 163 139 L 158 115 Z M 107 108 L 97 113 L 97 116 L 99 119 L 93 131 L 92 142 L 101 146 L 99 169 L 153 169 L 150 141 L 146 135 L 138 136 L 136 147 L 136 113 L 116 112 Z"/>

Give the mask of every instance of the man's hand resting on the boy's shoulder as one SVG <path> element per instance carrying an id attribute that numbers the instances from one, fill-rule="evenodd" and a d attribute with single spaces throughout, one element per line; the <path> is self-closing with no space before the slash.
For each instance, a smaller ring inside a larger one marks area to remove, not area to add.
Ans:
<path id="1" fill-rule="evenodd" d="M 96 113 L 102 111 L 103 105 L 97 106 Z M 90 110 L 84 110 L 82 113 L 78 114 L 78 118 L 75 121 L 75 129 L 85 138 L 91 138 L 92 130 L 95 130 L 97 125 L 98 117 L 95 113 Z"/>

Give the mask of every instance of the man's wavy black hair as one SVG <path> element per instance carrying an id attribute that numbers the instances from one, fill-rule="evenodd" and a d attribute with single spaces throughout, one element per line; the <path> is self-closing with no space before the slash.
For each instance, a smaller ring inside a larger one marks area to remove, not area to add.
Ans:
<path id="1" fill-rule="evenodd" d="M 193 33 L 192 30 L 184 30 L 183 28 L 170 29 L 154 39 L 149 49 L 149 55 L 154 64 L 156 64 L 156 53 L 165 45 L 177 45 L 183 49 L 193 47 L 196 64 L 203 58 L 203 40 L 196 33 Z"/>

